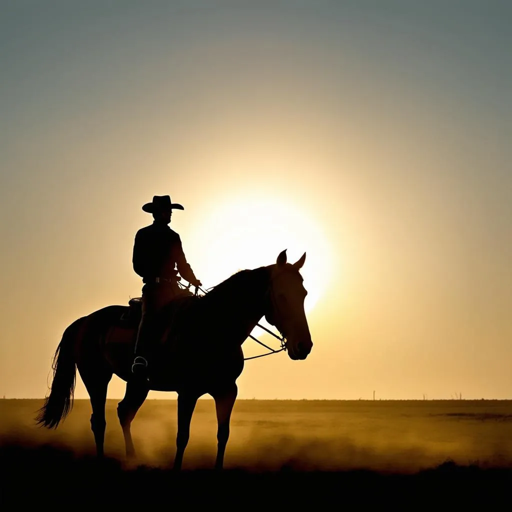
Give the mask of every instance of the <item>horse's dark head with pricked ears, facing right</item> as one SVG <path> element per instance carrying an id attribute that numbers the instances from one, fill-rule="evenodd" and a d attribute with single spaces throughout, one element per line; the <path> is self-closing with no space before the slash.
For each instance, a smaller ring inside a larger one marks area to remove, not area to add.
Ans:
<path id="1" fill-rule="evenodd" d="M 306 261 L 306 253 L 297 262 L 286 263 L 286 249 L 275 265 L 271 265 L 269 301 L 265 318 L 286 338 L 285 346 L 291 359 L 306 359 L 313 343 L 304 312 L 307 291 L 299 272 Z"/>

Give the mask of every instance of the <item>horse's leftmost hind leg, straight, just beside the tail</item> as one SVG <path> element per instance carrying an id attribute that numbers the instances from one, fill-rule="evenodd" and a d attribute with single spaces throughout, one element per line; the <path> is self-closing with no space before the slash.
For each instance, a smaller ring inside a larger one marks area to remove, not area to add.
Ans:
<path id="1" fill-rule="evenodd" d="M 78 369 L 80 371 L 80 369 Z M 105 402 L 106 390 L 109 387 L 112 372 L 80 372 L 83 383 L 91 398 L 91 430 L 96 442 L 96 454 L 103 457 L 103 443 L 105 441 Z"/>

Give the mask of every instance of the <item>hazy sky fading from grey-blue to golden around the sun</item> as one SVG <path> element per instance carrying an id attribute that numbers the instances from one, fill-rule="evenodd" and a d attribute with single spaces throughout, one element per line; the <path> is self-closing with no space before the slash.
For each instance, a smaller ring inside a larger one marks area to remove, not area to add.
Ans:
<path id="1" fill-rule="evenodd" d="M 307 254 L 311 354 L 247 361 L 239 398 L 512 398 L 511 23 L 494 0 L 0 2 L 0 396 L 44 397 L 66 327 L 140 295 L 141 206 L 169 194 L 205 287 Z"/>

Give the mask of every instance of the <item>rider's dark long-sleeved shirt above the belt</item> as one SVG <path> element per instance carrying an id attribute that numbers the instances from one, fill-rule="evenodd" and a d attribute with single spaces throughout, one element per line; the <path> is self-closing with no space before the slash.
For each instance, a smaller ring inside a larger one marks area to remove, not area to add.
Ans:
<path id="1" fill-rule="evenodd" d="M 178 272 L 188 282 L 197 281 L 185 259 L 179 234 L 163 222 L 154 221 L 137 231 L 133 269 L 143 283 L 154 282 L 157 277 L 178 281 Z"/>

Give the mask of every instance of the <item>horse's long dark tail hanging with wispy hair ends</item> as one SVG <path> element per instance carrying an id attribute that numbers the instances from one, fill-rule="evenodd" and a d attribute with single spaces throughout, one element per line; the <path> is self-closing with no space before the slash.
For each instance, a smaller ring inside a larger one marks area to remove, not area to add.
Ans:
<path id="1" fill-rule="evenodd" d="M 49 429 L 56 429 L 73 408 L 75 393 L 76 361 L 75 342 L 84 317 L 75 320 L 62 335 L 52 362 L 53 380 L 50 396 L 39 409 L 36 421 Z"/>

